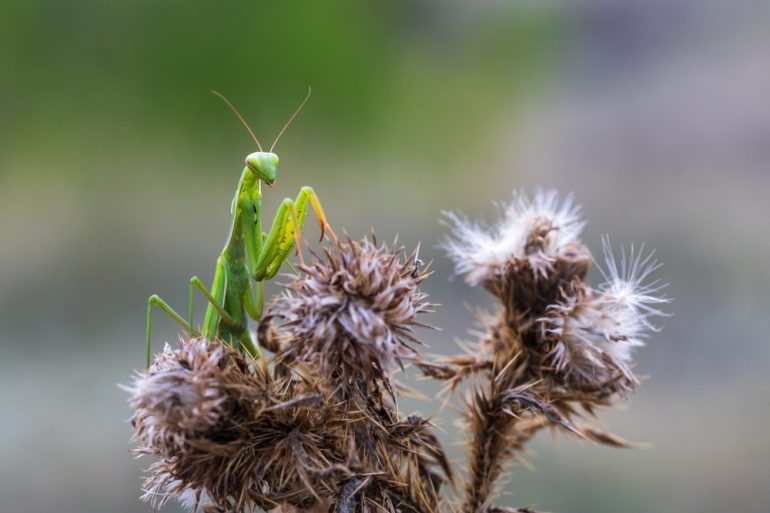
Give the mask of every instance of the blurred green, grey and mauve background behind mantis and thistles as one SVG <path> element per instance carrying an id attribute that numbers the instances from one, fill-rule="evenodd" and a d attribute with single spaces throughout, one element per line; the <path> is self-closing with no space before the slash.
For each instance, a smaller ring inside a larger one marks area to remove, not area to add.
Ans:
<path id="1" fill-rule="evenodd" d="M 665 262 L 674 316 L 605 417 L 651 448 L 545 433 L 501 503 L 770 511 L 768 55 L 751 0 L 4 0 L 0 511 L 149 511 L 117 385 L 143 365 L 147 296 L 184 309 L 210 279 L 254 149 L 208 91 L 267 143 L 308 85 L 264 211 L 311 184 L 338 231 L 421 242 L 435 353 L 489 304 L 436 248 L 442 210 L 555 187 L 595 251 L 608 233 Z M 158 319 L 156 349 L 176 337 Z"/>

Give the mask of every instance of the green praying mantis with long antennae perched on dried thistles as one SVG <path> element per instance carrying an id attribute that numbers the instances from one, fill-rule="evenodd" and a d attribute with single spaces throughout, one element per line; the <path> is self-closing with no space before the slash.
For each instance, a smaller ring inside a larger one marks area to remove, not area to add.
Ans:
<path id="1" fill-rule="evenodd" d="M 153 307 L 166 312 L 191 337 L 202 335 L 209 340 L 220 339 L 237 349 L 247 351 L 253 357 L 258 357 L 260 351 L 249 333 L 248 318 L 257 322 L 262 318 L 264 283 L 278 273 L 281 264 L 287 260 L 292 249 L 296 249 L 300 262 L 302 261 L 301 230 L 307 215 L 308 204 L 315 212 L 321 226 L 321 240 L 327 232 L 334 239 L 337 238 L 326 221 L 318 196 L 311 187 L 302 187 L 295 199 L 285 198 L 278 207 L 270 230 L 264 233 L 261 228 L 262 183 L 271 187 L 275 183 L 278 170 L 278 155 L 273 153 L 273 149 L 310 98 L 310 89 L 278 133 L 269 151 L 262 150 L 262 145 L 254 132 L 230 101 L 216 91 L 212 93 L 220 97 L 235 113 L 257 144 L 259 151 L 250 153 L 246 157 L 246 165 L 230 207 L 230 233 L 224 249 L 217 258 L 211 289 L 207 289 L 197 276 L 190 278 L 188 320 L 183 319 L 156 294 L 147 300 L 148 367 L 151 357 Z M 256 283 L 256 291 L 251 280 Z M 193 300 L 196 289 L 208 301 L 200 332 L 193 324 Z"/>

